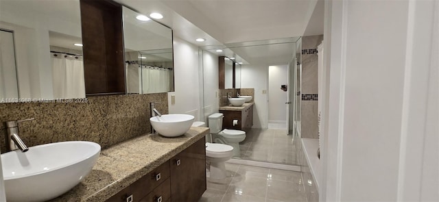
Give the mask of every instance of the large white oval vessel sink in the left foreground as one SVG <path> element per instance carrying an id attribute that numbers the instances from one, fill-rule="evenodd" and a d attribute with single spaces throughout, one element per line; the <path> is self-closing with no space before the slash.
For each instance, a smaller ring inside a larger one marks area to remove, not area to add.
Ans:
<path id="1" fill-rule="evenodd" d="M 95 165 L 101 146 L 71 141 L 1 154 L 7 201 L 47 201 L 76 186 Z"/>

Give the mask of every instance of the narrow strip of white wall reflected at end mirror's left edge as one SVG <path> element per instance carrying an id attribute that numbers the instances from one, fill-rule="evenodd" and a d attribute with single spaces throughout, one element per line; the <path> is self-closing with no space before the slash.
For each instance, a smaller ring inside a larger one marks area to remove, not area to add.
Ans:
<path id="1" fill-rule="evenodd" d="M 219 110 L 219 70 L 218 55 L 203 51 L 203 79 L 204 79 L 204 122 L 208 123 L 208 116 Z"/>

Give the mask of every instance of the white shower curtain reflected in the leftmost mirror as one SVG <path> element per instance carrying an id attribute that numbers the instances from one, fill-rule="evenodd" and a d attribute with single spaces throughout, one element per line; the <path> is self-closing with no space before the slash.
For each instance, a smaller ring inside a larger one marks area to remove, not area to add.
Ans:
<path id="1" fill-rule="evenodd" d="M 84 64 L 82 57 L 51 53 L 54 99 L 84 98 Z"/>

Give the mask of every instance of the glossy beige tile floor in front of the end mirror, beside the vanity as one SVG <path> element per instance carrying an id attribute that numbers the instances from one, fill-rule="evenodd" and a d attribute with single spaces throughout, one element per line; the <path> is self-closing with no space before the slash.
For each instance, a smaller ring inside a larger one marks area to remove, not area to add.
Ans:
<path id="1" fill-rule="evenodd" d="M 207 190 L 199 202 L 307 201 L 299 172 L 226 163 L 228 177 L 212 180 L 207 173 Z"/>

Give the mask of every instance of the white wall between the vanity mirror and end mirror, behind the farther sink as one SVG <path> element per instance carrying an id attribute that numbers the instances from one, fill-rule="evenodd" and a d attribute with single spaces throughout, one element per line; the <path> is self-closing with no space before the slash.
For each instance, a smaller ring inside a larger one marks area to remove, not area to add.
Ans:
<path id="1" fill-rule="evenodd" d="M 198 75 L 198 47 L 174 36 L 174 85 L 168 92 L 169 114 L 191 114 L 200 120 L 200 88 Z M 171 96 L 175 95 L 175 104 Z"/>

